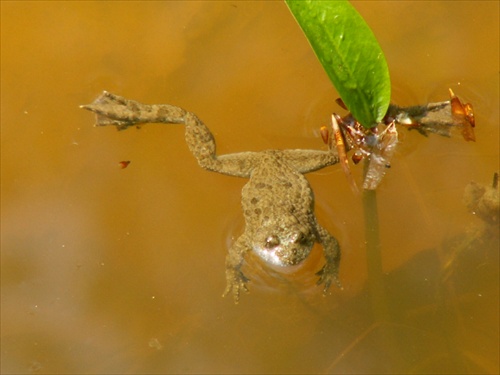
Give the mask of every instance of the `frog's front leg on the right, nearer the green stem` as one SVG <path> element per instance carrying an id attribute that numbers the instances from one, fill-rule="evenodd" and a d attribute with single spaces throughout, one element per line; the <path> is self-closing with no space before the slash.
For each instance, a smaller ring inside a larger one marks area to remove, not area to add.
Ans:
<path id="1" fill-rule="evenodd" d="M 319 243 L 323 246 L 326 259 L 326 263 L 323 268 L 316 273 L 316 275 L 319 276 L 317 284 L 325 284 L 323 294 L 326 294 L 328 288 L 330 288 L 330 285 L 332 284 L 332 281 L 334 281 L 335 284 L 342 289 L 342 285 L 339 280 L 340 246 L 337 239 L 319 224 L 317 225 L 317 231 L 319 235 Z"/>

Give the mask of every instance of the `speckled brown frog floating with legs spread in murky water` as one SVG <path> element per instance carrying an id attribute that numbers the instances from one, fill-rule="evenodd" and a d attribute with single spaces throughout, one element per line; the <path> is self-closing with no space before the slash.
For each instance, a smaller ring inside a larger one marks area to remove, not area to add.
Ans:
<path id="1" fill-rule="evenodd" d="M 192 112 L 170 104 L 142 104 L 104 91 L 95 101 L 80 106 L 96 114 L 95 126 L 118 130 L 144 124 L 182 124 L 187 146 L 198 164 L 212 172 L 248 179 L 241 194 L 244 231 L 228 249 L 225 260 L 226 288 L 239 302 L 248 292 L 250 279 L 243 273 L 246 254 L 253 252 L 274 268 L 299 266 L 313 245 L 323 248 L 324 266 L 316 273 L 326 295 L 339 280 L 340 245 L 321 226 L 314 212 L 313 190 L 305 174 L 339 162 L 337 151 L 285 149 L 247 151 L 218 155 L 209 128 Z"/>

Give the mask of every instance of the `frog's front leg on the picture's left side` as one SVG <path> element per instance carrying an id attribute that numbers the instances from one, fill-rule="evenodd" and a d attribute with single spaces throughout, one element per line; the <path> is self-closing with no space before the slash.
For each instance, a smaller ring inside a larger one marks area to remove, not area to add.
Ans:
<path id="1" fill-rule="evenodd" d="M 243 259 L 248 250 L 250 250 L 248 236 L 244 233 L 229 248 L 229 252 L 226 256 L 227 284 L 226 290 L 222 296 L 225 297 L 229 293 L 232 293 L 234 303 L 238 303 L 240 299 L 240 292 L 242 290 L 248 292 L 246 283 L 250 281 L 250 279 L 248 279 L 243 272 L 241 272 Z"/>

